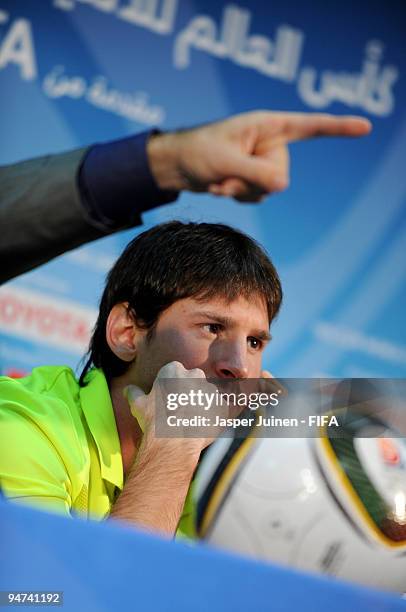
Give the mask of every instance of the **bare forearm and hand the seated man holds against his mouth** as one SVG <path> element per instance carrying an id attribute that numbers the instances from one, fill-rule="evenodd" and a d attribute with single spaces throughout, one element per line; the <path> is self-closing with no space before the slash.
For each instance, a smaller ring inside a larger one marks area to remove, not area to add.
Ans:
<path id="1" fill-rule="evenodd" d="M 186 370 L 177 361 L 163 366 L 150 393 L 130 385 L 126 396 L 133 416 L 142 430 L 136 455 L 126 474 L 123 491 L 114 503 L 110 516 L 162 535 L 173 536 L 182 515 L 190 482 L 207 438 L 158 437 L 155 434 L 157 412 L 165 413 L 164 379 L 206 381 L 199 369 Z M 209 384 L 209 383 L 207 383 Z M 162 410 L 163 409 L 163 410 Z"/>

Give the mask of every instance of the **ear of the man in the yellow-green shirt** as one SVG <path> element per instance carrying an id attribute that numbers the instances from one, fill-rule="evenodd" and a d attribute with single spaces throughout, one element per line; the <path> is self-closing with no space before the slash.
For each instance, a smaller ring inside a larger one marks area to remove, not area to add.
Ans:
<path id="1" fill-rule="evenodd" d="M 128 309 L 128 302 L 113 306 L 107 319 L 106 340 L 116 357 L 122 361 L 133 361 L 140 331 Z"/>

